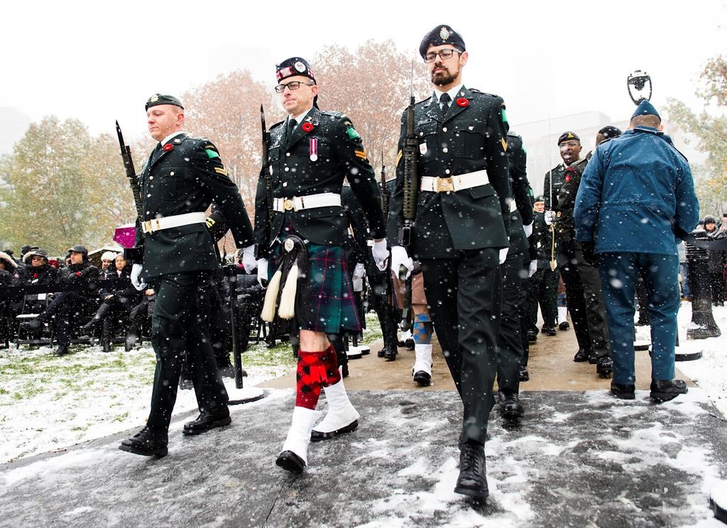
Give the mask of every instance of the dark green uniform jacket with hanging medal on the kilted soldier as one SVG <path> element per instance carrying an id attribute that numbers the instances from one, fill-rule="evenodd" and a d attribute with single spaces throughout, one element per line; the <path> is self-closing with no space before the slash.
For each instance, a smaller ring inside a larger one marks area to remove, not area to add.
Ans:
<path id="1" fill-rule="evenodd" d="M 308 124 L 306 124 L 308 123 Z M 268 163 L 260 171 L 255 197 L 257 257 L 268 258 L 270 247 L 283 229 L 284 212 L 273 211 L 268 222 L 265 174 L 272 179 L 273 198 L 294 198 L 322 192 L 341 194 L 343 180 L 364 210 L 372 238 L 385 237 L 379 187 L 374 169 L 350 119 L 338 112 L 313 107 L 302 123 L 286 137 L 286 121 L 270 127 Z M 319 245 L 344 245 L 348 219 L 342 207 L 318 207 L 288 211 L 294 231 Z"/>

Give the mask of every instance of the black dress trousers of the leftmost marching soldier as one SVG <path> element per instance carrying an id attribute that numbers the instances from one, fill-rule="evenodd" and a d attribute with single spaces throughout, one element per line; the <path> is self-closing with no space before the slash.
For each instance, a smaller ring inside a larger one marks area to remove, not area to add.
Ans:
<path id="1" fill-rule="evenodd" d="M 147 426 L 168 429 L 185 351 L 190 357 L 191 380 L 200 412 L 224 407 L 228 402 L 207 329 L 202 322 L 197 287 L 209 273 L 182 272 L 154 280 L 156 302 L 151 322 L 151 343 L 156 353 L 154 388 Z"/>

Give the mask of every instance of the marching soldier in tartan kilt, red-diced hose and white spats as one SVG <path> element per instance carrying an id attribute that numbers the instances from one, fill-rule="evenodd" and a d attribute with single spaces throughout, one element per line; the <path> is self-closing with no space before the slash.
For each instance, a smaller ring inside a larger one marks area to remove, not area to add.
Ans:
<path id="1" fill-rule="evenodd" d="M 346 394 L 332 345 L 342 333 L 359 330 L 342 254 L 348 238 L 341 201 L 344 179 L 364 210 L 379 269 L 385 268 L 389 253 L 379 187 L 353 123 L 342 113 L 318 109 L 316 76 L 302 58 L 278 65 L 277 79 L 276 92 L 288 117 L 270 128 L 268 163 L 255 198 L 255 239 L 261 284 L 268 280 L 268 259 L 283 263 L 268 284 L 263 317 L 279 304 L 278 314 L 300 328 L 295 408 L 276 460 L 286 471 L 300 474 L 311 439 L 329 439 L 358 426 L 359 415 Z M 289 288 L 298 282 L 297 290 Z M 283 314 L 291 299 L 294 313 L 286 309 Z M 313 429 L 321 388 L 329 410 Z"/>

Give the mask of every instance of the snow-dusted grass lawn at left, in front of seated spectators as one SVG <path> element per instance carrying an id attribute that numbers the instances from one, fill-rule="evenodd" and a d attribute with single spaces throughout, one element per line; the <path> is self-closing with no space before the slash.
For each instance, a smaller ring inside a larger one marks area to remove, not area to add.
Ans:
<path id="1" fill-rule="evenodd" d="M 367 314 L 364 341 L 381 337 L 375 314 Z M 52 356 L 48 347 L 0 350 L 0 463 L 63 449 L 142 426 L 149 413 L 156 359 L 151 346 L 124 352 L 114 346 L 73 345 Z M 251 346 L 242 354 L 252 387 L 291 372 L 290 345 Z M 235 381 L 223 378 L 228 391 Z M 230 391 L 231 392 L 231 391 Z M 175 414 L 197 408 L 193 390 L 177 392 Z"/>

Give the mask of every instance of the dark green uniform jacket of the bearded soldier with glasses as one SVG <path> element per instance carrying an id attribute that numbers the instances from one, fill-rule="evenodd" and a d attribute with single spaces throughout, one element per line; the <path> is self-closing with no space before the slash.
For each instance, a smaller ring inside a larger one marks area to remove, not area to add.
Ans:
<path id="1" fill-rule="evenodd" d="M 414 259 L 454 258 L 453 249 L 508 246 L 510 183 L 504 108 L 501 97 L 465 87 L 444 116 L 434 97 L 414 106 L 419 178 L 449 177 L 483 169 L 489 177 L 488 184 L 459 192 L 419 191 L 409 251 Z M 406 111 L 401 116 L 400 154 L 405 137 Z M 403 165 L 400 155 L 388 218 L 392 243 L 403 225 Z"/>

